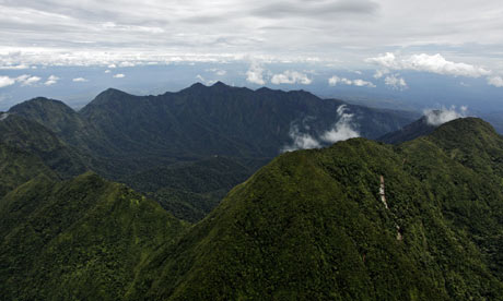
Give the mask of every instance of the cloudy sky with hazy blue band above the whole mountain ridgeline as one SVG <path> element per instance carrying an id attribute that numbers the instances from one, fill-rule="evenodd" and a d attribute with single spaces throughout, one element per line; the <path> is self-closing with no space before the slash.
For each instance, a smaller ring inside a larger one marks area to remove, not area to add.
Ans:
<path id="1" fill-rule="evenodd" d="M 175 64 L 187 65 L 176 69 L 183 83 L 136 91 L 224 80 L 396 95 L 420 73 L 503 91 L 495 0 L 0 0 L 0 107 L 36 87 L 127 88 L 147 68 Z"/>

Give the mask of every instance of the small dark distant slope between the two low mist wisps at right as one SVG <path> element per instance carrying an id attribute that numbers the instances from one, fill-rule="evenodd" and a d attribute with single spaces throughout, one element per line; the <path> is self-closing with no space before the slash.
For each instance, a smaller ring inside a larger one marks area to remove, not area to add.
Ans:
<path id="1" fill-rule="evenodd" d="M 400 144 L 407 141 L 414 140 L 420 136 L 428 135 L 432 133 L 437 125 L 432 125 L 428 122 L 428 118 L 425 116 L 421 117 L 417 121 L 407 124 L 406 127 L 395 131 L 387 133 L 377 139 L 377 141 L 388 143 L 388 144 Z"/>

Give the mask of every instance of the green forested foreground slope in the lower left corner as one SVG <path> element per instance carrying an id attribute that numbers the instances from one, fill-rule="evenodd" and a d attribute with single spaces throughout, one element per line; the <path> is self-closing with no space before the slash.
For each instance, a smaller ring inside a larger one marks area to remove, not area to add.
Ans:
<path id="1" fill-rule="evenodd" d="M 1 300 L 117 300 L 186 225 L 118 183 L 39 176 L 0 198 Z"/>

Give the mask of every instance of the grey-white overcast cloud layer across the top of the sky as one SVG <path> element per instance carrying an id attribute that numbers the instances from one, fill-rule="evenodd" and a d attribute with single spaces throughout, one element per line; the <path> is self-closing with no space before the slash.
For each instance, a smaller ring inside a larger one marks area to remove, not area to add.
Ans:
<path id="1" fill-rule="evenodd" d="M 496 0 L 1 0 L 0 10 L 11 67 L 249 56 L 361 64 L 406 49 L 502 69 Z"/>

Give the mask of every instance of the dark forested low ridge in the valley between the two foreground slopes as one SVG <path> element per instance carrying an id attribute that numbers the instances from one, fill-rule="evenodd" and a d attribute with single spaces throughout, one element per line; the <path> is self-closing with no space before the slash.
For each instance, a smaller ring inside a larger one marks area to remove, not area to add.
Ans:
<path id="1" fill-rule="evenodd" d="M 197 221 L 253 172 L 225 157 L 154 168 L 126 179 L 132 189 L 156 200 L 178 218 Z"/>

